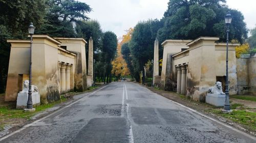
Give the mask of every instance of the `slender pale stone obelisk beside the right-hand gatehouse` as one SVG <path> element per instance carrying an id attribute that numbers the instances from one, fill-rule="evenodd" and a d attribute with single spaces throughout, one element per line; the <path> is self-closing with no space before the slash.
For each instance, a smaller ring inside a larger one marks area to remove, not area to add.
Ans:
<path id="1" fill-rule="evenodd" d="M 159 76 L 159 54 L 158 54 L 158 40 L 156 38 L 154 45 L 154 71 L 153 71 L 153 84 L 155 85 L 156 78 L 155 76 Z"/>

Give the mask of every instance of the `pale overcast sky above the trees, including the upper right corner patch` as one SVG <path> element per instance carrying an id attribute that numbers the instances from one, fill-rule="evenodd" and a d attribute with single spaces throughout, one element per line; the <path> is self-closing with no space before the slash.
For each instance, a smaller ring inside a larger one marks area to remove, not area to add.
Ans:
<path id="1" fill-rule="evenodd" d="M 91 19 L 98 20 L 102 30 L 112 31 L 117 37 L 125 34 L 125 30 L 134 27 L 138 21 L 161 19 L 167 9 L 169 0 L 78 0 L 90 5 L 93 11 Z M 229 8 L 241 11 L 245 17 L 247 28 L 256 24 L 255 0 L 226 0 Z M 254 8 L 253 8 L 254 7 Z"/>

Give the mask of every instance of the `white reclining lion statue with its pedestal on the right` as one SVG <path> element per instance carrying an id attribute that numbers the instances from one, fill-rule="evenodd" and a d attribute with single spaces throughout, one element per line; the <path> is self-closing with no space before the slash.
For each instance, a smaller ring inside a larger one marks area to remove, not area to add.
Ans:
<path id="1" fill-rule="evenodd" d="M 205 102 L 217 107 L 224 106 L 225 96 L 222 92 L 222 83 L 217 81 L 214 87 L 209 88 Z"/>

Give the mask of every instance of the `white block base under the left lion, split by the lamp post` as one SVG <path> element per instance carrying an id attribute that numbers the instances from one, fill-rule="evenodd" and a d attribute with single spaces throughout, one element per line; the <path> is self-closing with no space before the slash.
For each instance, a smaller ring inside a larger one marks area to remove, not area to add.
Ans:
<path id="1" fill-rule="evenodd" d="M 26 108 L 27 102 L 28 102 L 28 93 L 18 93 L 16 108 L 17 109 Z M 40 94 L 38 92 L 32 93 L 32 102 L 33 102 L 33 105 L 40 104 Z"/>

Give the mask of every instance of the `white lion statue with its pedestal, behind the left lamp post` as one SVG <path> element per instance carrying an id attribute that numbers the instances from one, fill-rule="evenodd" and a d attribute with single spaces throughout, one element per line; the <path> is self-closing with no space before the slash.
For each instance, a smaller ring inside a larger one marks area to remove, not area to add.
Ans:
<path id="1" fill-rule="evenodd" d="M 29 90 L 29 81 L 25 80 L 23 82 L 23 90 L 18 93 L 17 96 L 17 104 L 16 108 L 17 109 L 24 109 L 27 107 L 27 102 L 28 102 L 28 90 Z M 35 85 L 31 86 L 32 90 L 32 103 L 33 105 L 40 104 L 40 94 L 38 93 L 38 89 Z"/>

